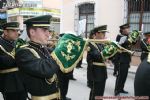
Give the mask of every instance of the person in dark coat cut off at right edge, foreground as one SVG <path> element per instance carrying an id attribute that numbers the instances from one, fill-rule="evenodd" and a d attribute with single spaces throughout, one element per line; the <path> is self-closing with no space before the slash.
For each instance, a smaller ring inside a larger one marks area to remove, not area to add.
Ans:
<path id="1" fill-rule="evenodd" d="M 134 93 L 135 96 L 150 96 L 150 53 L 148 57 L 142 60 L 136 71 Z M 149 100 L 149 98 L 146 100 Z"/>

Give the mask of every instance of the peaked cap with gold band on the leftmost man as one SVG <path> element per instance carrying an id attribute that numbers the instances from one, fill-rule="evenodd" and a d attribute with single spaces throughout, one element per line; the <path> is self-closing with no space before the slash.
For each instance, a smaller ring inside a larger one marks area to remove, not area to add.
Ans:
<path id="1" fill-rule="evenodd" d="M 19 23 L 18 22 L 8 22 L 2 25 L 3 30 L 7 29 L 14 29 L 14 30 L 19 30 Z"/>

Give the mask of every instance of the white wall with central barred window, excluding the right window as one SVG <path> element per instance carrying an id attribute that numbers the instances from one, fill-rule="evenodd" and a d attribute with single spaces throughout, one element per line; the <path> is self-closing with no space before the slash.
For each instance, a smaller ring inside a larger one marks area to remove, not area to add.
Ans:
<path id="1" fill-rule="evenodd" d="M 61 12 L 61 32 L 78 32 L 79 22 L 85 19 L 84 37 L 93 27 L 106 24 L 110 32 L 107 37 L 114 39 L 124 23 L 123 0 L 63 0 Z"/>

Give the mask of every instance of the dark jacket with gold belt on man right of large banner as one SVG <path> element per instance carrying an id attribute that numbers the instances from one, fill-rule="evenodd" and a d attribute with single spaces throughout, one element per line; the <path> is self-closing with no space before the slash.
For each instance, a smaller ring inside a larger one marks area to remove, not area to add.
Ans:
<path id="1" fill-rule="evenodd" d="M 95 43 L 94 43 L 95 44 Z M 90 50 L 87 54 L 88 62 L 88 79 L 91 81 L 105 81 L 107 78 L 107 70 L 101 56 L 103 44 L 89 44 Z"/>

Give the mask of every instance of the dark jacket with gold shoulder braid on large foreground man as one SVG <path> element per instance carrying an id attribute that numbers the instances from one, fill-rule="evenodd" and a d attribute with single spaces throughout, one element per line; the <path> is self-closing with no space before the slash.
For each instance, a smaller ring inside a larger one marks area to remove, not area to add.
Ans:
<path id="1" fill-rule="evenodd" d="M 16 52 L 16 62 L 25 88 L 32 96 L 45 96 L 58 92 L 56 72 L 59 67 L 50 57 L 48 49 L 35 42 L 22 46 Z M 50 79 L 51 81 L 46 81 Z"/>

